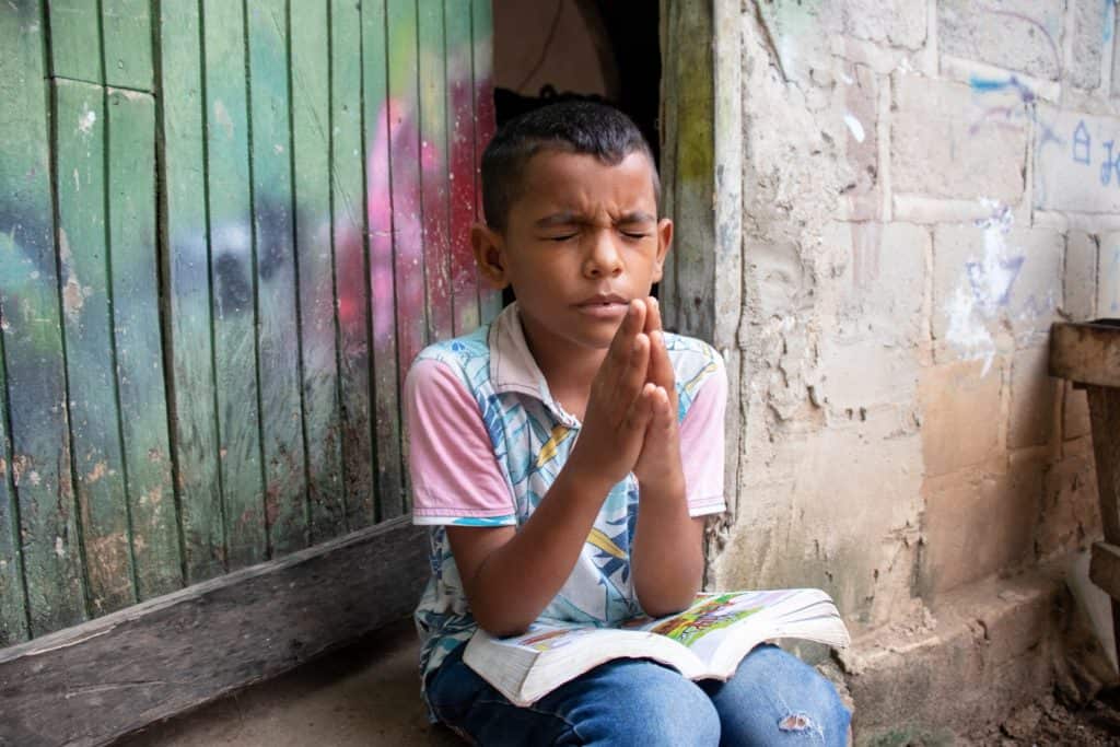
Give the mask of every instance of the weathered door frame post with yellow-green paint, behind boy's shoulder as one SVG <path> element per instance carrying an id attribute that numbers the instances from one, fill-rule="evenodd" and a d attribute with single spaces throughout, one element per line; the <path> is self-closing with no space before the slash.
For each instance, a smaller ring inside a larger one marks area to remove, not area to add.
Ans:
<path id="1" fill-rule="evenodd" d="M 708 555 L 735 522 L 746 428 L 743 377 L 743 9 L 737 0 L 662 0 L 662 213 L 673 250 L 661 283 L 666 325 L 711 343 L 730 392 L 725 485 L 728 512 L 711 526 Z"/>

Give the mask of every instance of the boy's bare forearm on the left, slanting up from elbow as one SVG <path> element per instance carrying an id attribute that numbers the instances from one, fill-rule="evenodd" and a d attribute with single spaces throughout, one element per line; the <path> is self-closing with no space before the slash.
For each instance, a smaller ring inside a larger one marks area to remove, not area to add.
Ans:
<path id="1" fill-rule="evenodd" d="M 579 473 L 571 463 L 560 470 L 521 530 L 487 552 L 473 577 L 463 579 L 483 628 L 511 635 L 540 616 L 571 575 L 609 489 L 605 480 Z"/>

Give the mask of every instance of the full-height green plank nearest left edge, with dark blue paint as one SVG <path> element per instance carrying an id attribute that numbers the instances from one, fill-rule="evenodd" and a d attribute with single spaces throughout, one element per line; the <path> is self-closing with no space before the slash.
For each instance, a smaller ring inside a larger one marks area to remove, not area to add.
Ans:
<path id="1" fill-rule="evenodd" d="M 43 8 L 0 3 L 0 335 L 30 634 L 85 618 L 52 225 Z"/>

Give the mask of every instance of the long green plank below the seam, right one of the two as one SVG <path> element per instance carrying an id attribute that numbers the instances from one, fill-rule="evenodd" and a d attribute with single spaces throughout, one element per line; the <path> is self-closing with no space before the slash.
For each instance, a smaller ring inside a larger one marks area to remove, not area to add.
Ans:
<path id="1" fill-rule="evenodd" d="M 139 599 L 184 583 L 159 328 L 156 102 L 110 90 L 109 240 L 121 449 Z M 122 494 L 119 499 L 123 499 Z M 86 543 L 88 548 L 88 542 Z"/>

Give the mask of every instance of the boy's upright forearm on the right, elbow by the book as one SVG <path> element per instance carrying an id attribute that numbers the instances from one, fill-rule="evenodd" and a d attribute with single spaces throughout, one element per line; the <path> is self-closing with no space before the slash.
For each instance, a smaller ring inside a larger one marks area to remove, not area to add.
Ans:
<path id="1" fill-rule="evenodd" d="M 640 488 L 631 570 L 638 603 L 654 617 L 692 604 L 703 576 L 703 524 L 689 516 L 683 483 Z"/>

